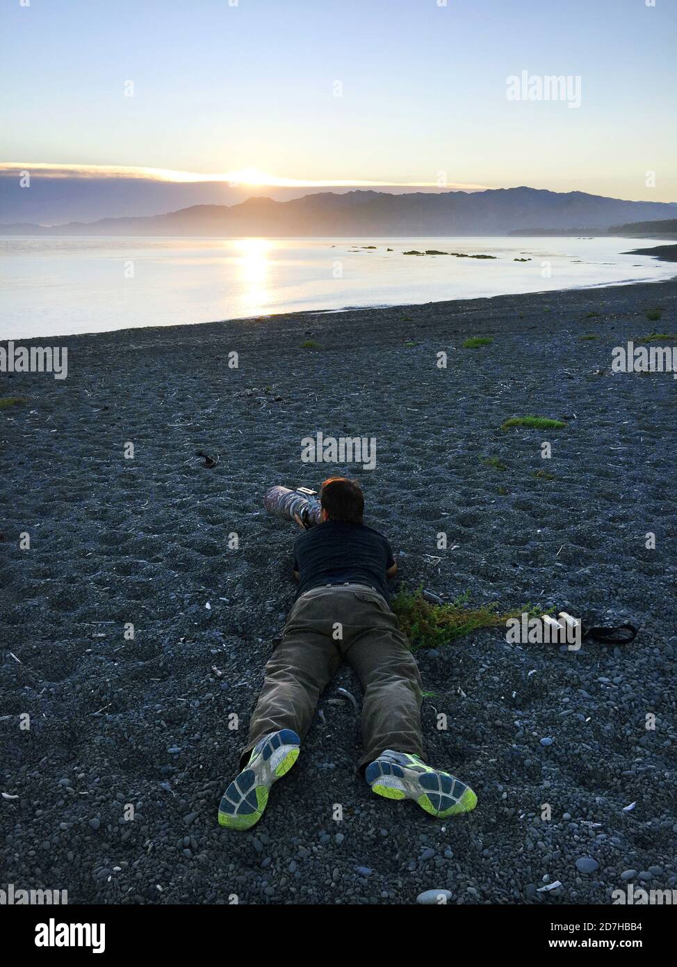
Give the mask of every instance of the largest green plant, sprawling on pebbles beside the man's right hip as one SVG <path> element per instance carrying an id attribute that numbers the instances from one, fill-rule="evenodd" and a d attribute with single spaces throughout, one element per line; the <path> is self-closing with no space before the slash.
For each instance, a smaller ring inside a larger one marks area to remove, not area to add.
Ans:
<path id="1" fill-rule="evenodd" d="M 528 607 L 510 614 L 501 614 L 494 607 L 482 604 L 472 607 L 467 603 L 468 594 L 449 604 L 432 604 L 423 597 L 418 588 L 413 594 L 401 591 L 392 601 L 400 629 L 409 638 L 412 651 L 419 648 L 439 648 L 455 638 L 479 628 L 501 628 L 508 618 L 518 617 Z"/>

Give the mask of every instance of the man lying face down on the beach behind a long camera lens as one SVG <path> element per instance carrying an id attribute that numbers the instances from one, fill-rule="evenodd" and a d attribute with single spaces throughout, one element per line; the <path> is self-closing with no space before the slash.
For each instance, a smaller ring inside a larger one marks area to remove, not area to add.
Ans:
<path id="1" fill-rule="evenodd" d="M 355 481 L 324 481 L 320 503 L 323 522 L 296 540 L 298 597 L 266 666 L 241 772 L 223 795 L 218 821 L 235 830 L 258 823 L 342 660 L 364 689 L 360 770 L 372 790 L 412 799 L 440 818 L 469 812 L 477 803 L 472 789 L 423 762 L 421 677 L 388 604 L 387 578 L 397 571 L 390 544 L 362 523 Z"/>

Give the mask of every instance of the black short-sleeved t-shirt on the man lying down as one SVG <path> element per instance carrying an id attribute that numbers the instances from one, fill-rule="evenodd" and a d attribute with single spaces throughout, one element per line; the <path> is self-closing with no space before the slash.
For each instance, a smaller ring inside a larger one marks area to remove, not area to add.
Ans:
<path id="1" fill-rule="evenodd" d="M 325 520 L 304 531 L 294 545 L 298 594 L 322 584 L 369 584 L 388 601 L 385 571 L 395 559 L 382 534 L 364 524 Z"/>

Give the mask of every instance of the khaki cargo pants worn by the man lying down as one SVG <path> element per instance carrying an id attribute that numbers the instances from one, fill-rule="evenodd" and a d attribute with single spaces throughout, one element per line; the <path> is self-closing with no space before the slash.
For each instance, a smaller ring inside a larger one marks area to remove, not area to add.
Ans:
<path id="1" fill-rule="evenodd" d="M 397 618 L 373 588 L 336 584 L 306 591 L 292 608 L 266 666 L 240 768 L 269 732 L 291 728 L 303 740 L 342 660 L 364 690 L 360 767 L 386 748 L 423 754 L 421 676 Z"/>

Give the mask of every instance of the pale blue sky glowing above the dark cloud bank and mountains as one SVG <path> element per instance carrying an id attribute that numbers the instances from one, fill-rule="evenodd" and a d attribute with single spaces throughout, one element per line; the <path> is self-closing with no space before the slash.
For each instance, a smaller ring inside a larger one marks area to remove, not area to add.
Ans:
<path id="1" fill-rule="evenodd" d="M 674 0 L 0 0 L 0 161 L 675 201 L 675 50 Z"/>

